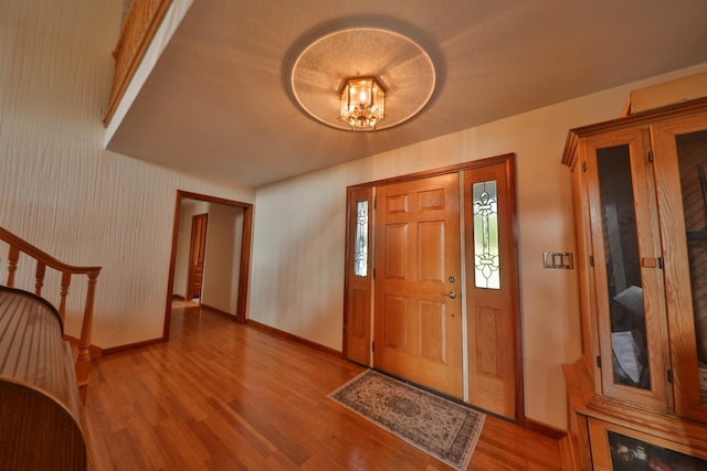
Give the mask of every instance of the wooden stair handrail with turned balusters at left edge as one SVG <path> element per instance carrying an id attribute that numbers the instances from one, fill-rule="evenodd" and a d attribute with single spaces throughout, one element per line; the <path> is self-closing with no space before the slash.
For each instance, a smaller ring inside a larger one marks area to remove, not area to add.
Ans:
<path id="1" fill-rule="evenodd" d="M 8 244 L 8 279 L 6 286 L 14 288 L 14 275 L 18 269 L 20 253 L 28 255 L 36 261 L 34 293 L 42 296 L 44 286 L 44 275 L 46 268 L 54 269 L 62 275 L 59 313 L 64 322 L 66 315 L 66 298 L 72 276 L 86 276 L 88 278 L 86 300 L 84 302 L 84 313 L 81 323 L 81 336 L 78 339 L 78 355 L 75 360 L 76 382 L 82 403 L 86 402 L 86 389 L 88 387 L 88 373 L 91 372 L 91 330 L 93 328 L 93 304 L 96 292 L 96 280 L 101 272 L 101 267 L 77 267 L 64 264 L 45 251 L 34 247 L 29 242 L 12 234 L 0 226 L 0 240 Z"/>

